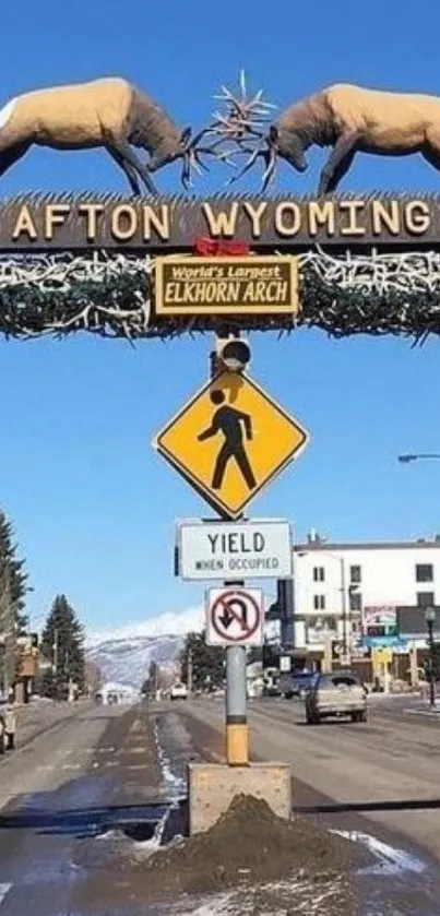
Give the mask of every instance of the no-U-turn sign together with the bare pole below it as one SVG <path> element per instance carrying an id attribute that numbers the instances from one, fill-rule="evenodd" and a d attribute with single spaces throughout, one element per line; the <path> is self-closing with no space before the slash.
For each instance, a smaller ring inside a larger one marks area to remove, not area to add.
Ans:
<path id="1" fill-rule="evenodd" d="M 263 642 L 262 593 L 241 580 L 211 588 L 206 602 L 206 642 L 226 649 L 226 762 L 249 763 L 246 647 Z"/>

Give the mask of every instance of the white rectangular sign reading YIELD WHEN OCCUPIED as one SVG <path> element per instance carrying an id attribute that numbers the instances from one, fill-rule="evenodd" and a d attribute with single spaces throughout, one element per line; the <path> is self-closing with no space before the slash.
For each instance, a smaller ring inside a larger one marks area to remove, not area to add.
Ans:
<path id="1" fill-rule="evenodd" d="M 181 579 L 278 579 L 292 575 L 292 530 L 284 520 L 191 522 L 177 527 Z"/>

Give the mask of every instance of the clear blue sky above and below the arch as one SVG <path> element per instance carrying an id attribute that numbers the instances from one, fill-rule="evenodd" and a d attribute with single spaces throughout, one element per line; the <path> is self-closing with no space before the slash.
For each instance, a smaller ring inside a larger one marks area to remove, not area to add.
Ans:
<path id="1" fill-rule="evenodd" d="M 1 97 L 123 75 L 182 124 L 201 126 L 240 67 L 281 105 L 340 81 L 440 94 L 439 32 L 432 0 L 15 0 L 2 10 Z M 306 176 L 282 169 L 280 188 L 310 191 L 320 162 L 313 153 Z M 174 167 L 157 177 L 164 190 L 177 180 Z M 200 192 L 219 180 L 217 171 Z M 2 179 L 1 195 L 37 189 L 126 186 L 105 153 L 33 151 Z M 437 192 L 440 175 L 416 158 L 359 155 L 344 189 Z M 360 539 L 440 531 L 440 463 L 395 460 L 440 451 L 436 340 L 414 349 L 300 332 L 251 343 L 254 377 L 312 437 L 253 514 L 288 515 L 298 536 L 310 526 Z M 200 602 L 200 587 L 173 578 L 174 521 L 206 509 L 150 442 L 203 383 L 209 349 L 209 338 L 135 350 L 86 336 L 0 343 L 0 502 L 28 561 L 35 621 L 59 591 L 93 629 Z"/>

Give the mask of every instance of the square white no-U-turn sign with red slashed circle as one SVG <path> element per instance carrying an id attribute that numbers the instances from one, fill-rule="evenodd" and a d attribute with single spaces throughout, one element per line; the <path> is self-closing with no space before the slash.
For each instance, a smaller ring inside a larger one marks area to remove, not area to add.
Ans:
<path id="1" fill-rule="evenodd" d="M 260 588 L 227 587 L 207 592 L 207 645 L 262 645 L 263 624 Z"/>

